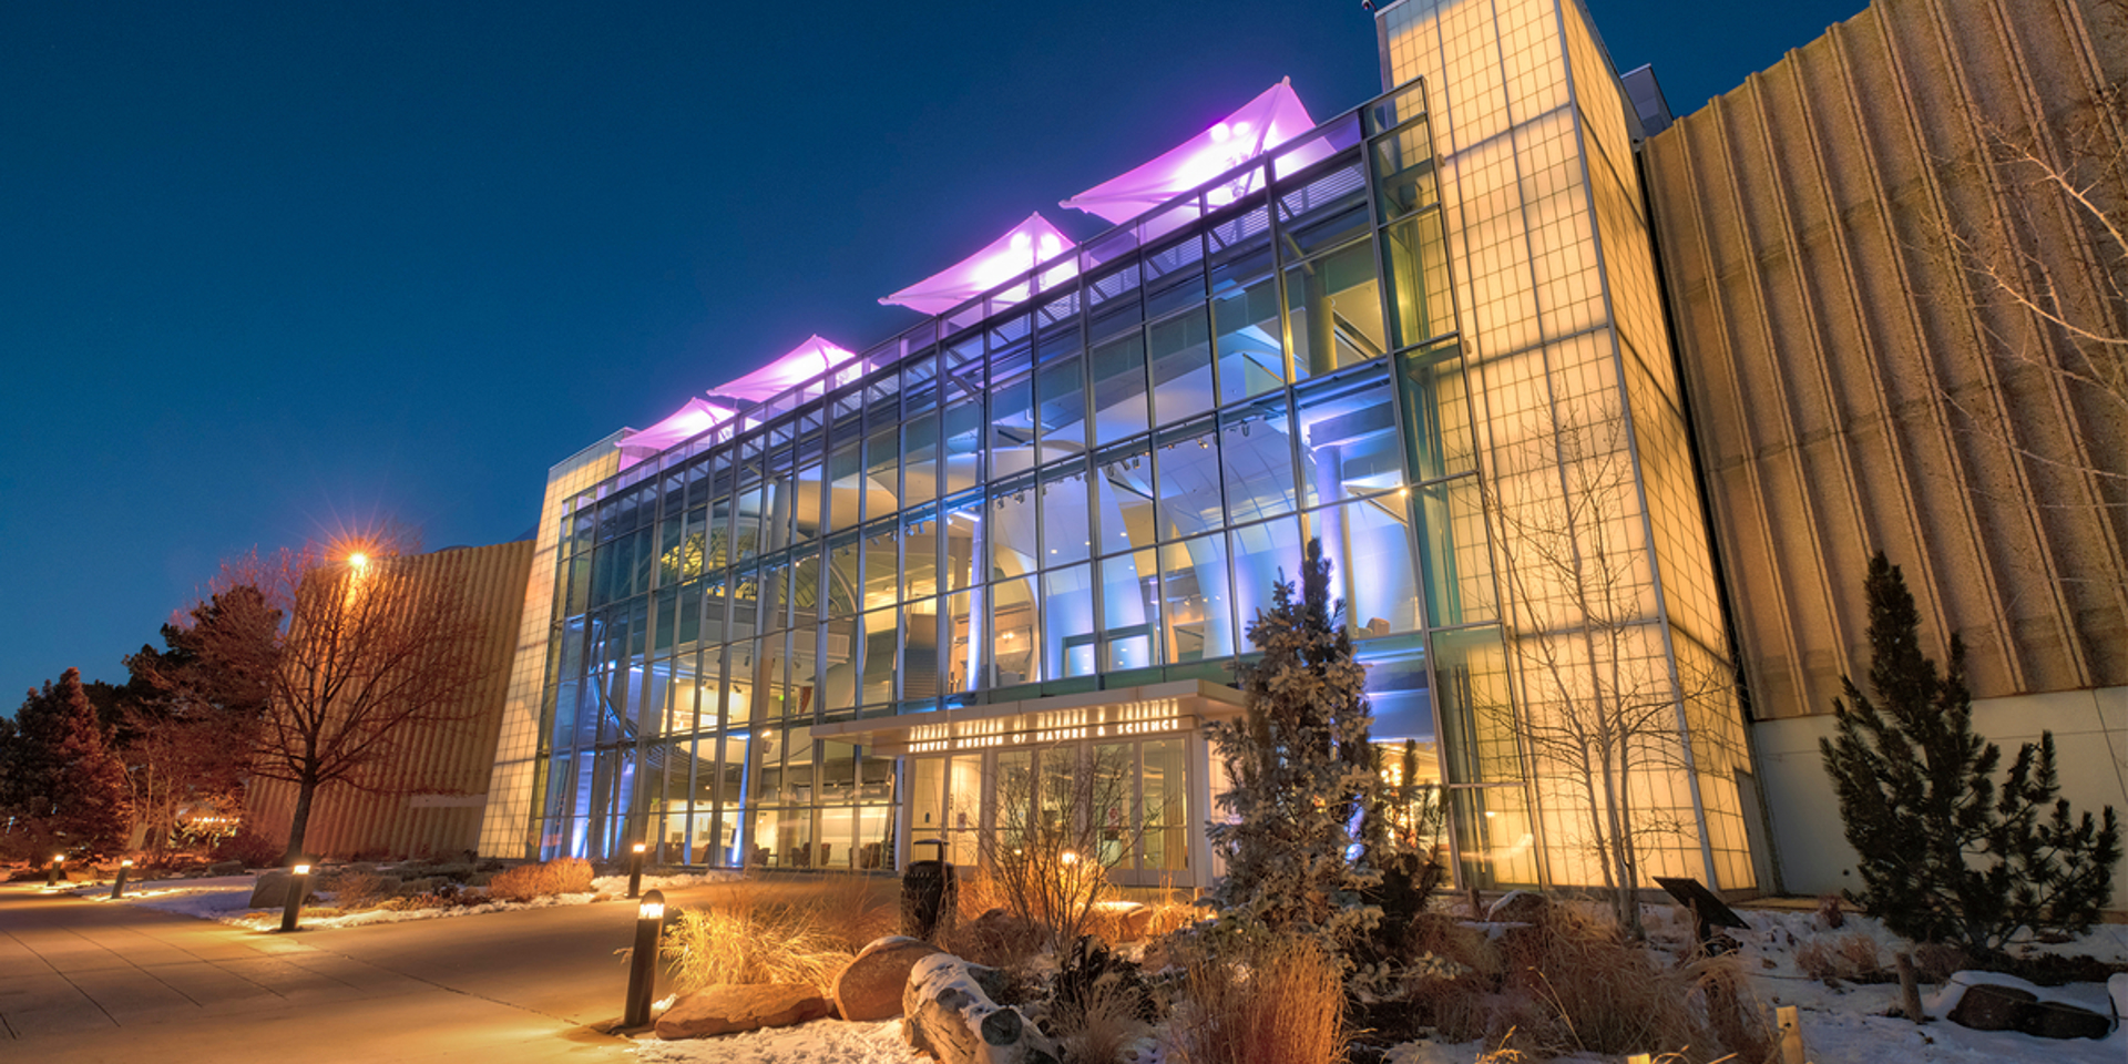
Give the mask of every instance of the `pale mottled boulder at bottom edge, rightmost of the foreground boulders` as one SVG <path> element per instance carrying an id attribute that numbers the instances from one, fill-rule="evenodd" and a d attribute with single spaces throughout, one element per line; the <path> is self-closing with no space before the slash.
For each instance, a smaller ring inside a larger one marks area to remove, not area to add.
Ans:
<path id="1" fill-rule="evenodd" d="M 941 1064 L 1058 1064 L 1055 1041 L 992 998 L 996 972 L 951 953 L 924 958 L 902 990 L 902 1034 Z"/>

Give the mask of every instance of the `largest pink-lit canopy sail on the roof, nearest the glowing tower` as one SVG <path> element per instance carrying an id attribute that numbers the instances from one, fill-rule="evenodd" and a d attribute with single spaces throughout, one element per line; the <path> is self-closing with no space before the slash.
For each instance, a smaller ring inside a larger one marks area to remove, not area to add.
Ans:
<path id="1" fill-rule="evenodd" d="M 1064 206 L 1109 221 L 1130 221 L 1313 128 L 1315 119 L 1294 94 L 1292 79 L 1279 81 L 1243 104 L 1241 111 L 1215 121 L 1213 128 L 1183 140 L 1153 162 L 1064 200 Z M 1253 192 L 1262 187 L 1260 181 L 1258 172 L 1245 179 L 1245 187 L 1211 189 L 1211 204 L 1219 206 L 1234 196 Z"/>

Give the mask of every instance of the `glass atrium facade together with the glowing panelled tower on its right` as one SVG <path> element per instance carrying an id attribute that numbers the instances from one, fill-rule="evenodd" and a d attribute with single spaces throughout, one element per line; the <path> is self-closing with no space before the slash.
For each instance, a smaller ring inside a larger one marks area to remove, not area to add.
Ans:
<path id="1" fill-rule="evenodd" d="M 1630 115 L 1577 4 L 1496 6 L 1387 4 L 1387 96 L 553 481 L 526 849 L 972 862 L 996 779 L 1098 764 L 1134 777 L 1117 877 L 1209 883 L 1198 724 L 1321 538 L 1460 883 L 1605 883 L 1556 726 L 1613 700 L 1643 872 L 1749 890 Z"/>

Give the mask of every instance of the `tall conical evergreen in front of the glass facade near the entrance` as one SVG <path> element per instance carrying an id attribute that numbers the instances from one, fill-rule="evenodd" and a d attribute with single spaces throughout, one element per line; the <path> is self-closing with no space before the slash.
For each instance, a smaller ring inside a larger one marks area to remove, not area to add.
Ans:
<path id="1" fill-rule="evenodd" d="M 1283 572 L 1270 598 L 1249 624 L 1262 660 L 1238 668 L 1243 715 L 1209 728 L 1230 781 L 1219 796 L 1228 819 L 1209 826 L 1226 858 L 1213 902 L 1232 928 L 1336 947 L 1379 919 L 1364 896 L 1379 877 L 1358 845 L 1377 785 L 1366 670 L 1343 602 L 1330 602 L 1321 541 L 1309 541 L 1300 598 Z"/>

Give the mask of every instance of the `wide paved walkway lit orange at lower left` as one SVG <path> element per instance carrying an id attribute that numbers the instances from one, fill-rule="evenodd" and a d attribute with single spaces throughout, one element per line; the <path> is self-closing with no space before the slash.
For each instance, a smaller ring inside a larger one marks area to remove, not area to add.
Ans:
<path id="1" fill-rule="evenodd" d="M 685 898 L 675 896 L 675 902 Z M 0 1060 L 628 1060 L 626 902 L 249 932 L 0 887 Z"/>

